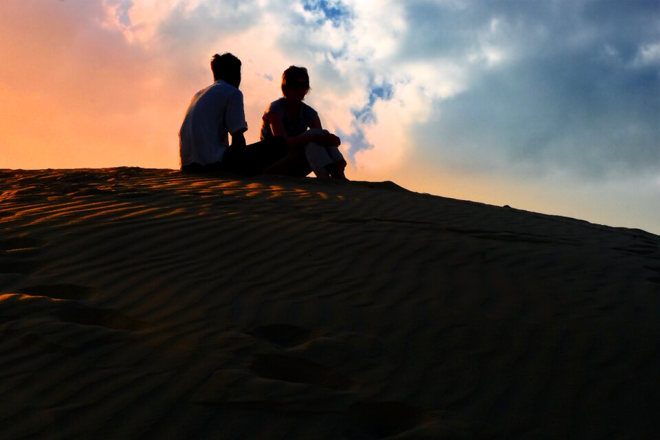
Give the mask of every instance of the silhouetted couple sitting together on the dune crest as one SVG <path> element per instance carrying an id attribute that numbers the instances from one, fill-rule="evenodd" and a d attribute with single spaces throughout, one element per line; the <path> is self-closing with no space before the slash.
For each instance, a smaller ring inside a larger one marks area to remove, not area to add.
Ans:
<path id="1" fill-rule="evenodd" d="M 291 66 L 282 75 L 283 98 L 263 114 L 261 141 L 246 145 L 241 61 L 226 53 L 211 59 L 214 83 L 192 98 L 179 130 L 181 170 L 188 173 L 228 170 L 346 179 L 340 139 L 322 129 L 318 113 L 303 100 L 309 93 L 305 67 Z M 231 143 L 229 142 L 231 135 Z"/>

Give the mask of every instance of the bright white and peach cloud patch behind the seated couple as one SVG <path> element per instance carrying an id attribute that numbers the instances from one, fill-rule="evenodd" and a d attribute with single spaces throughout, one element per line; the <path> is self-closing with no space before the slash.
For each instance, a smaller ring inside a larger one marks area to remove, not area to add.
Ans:
<path id="1" fill-rule="evenodd" d="M 217 15 L 227 10 L 221 11 L 214 4 L 209 0 L 104 0 L 104 25 L 151 52 L 171 50 L 168 41 L 174 41 L 180 65 L 176 69 L 202 65 L 194 57 L 201 56 L 203 47 L 210 52 L 207 56 L 225 51 L 239 56 L 250 124 L 248 141 L 256 140 L 267 102 L 280 94 L 278 81 L 268 78 L 280 78 L 290 64 L 308 67 L 313 87 L 308 101 L 318 109 L 325 126 L 341 133 L 363 133 L 364 142 L 376 147 L 356 159 L 364 159 L 365 166 L 371 168 L 380 166 L 384 172 L 397 165 L 403 148 L 394 148 L 393 153 L 391 145 L 406 143 L 408 124 L 426 120 L 433 100 L 448 98 L 467 87 L 465 64 L 469 61 L 398 58 L 400 38 L 410 25 L 404 5 L 398 1 L 334 1 L 305 3 L 304 7 L 303 3 L 261 0 L 249 20 L 240 12 L 232 12 L 237 21 L 232 32 L 212 32 L 208 23 L 221 20 Z M 491 28 L 496 32 L 500 25 L 491 23 Z M 178 41 L 179 36 L 188 43 Z M 186 50 L 186 45 L 192 47 Z M 503 59 L 491 46 L 476 56 L 487 65 Z M 391 94 L 375 96 L 373 89 L 377 87 L 387 87 Z M 355 112 L 361 109 L 373 119 L 356 119 Z M 343 148 L 359 151 L 362 146 L 351 145 L 351 139 L 357 138 L 347 137 Z"/>

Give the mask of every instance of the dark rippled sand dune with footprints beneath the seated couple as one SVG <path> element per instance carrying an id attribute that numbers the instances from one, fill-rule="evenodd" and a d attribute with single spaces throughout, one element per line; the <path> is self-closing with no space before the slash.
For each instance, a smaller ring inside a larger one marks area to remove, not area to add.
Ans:
<path id="1" fill-rule="evenodd" d="M 642 439 L 660 237 L 392 184 L 0 171 L 3 439 Z"/>

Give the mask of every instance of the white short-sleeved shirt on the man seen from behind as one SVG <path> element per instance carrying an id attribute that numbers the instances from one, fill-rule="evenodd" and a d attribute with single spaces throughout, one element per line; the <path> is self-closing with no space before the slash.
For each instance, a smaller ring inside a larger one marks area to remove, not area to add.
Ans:
<path id="1" fill-rule="evenodd" d="M 195 94 L 179 129 L 181 166 L 220 162 L 229 148 L 229 133 L 245 131 L 243 93 L 217 80 Z"/>

